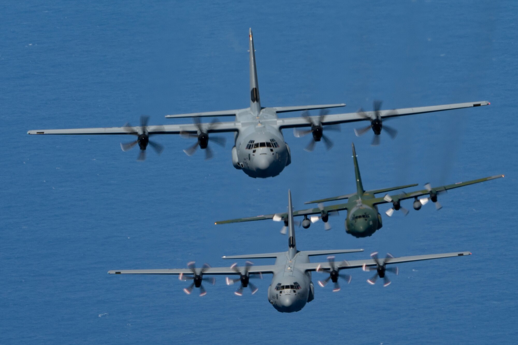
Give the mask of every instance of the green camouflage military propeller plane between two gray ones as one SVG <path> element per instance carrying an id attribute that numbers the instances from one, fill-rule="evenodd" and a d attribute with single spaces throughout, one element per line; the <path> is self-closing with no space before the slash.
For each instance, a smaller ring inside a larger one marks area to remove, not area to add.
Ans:
<path id="1" fill-rule="evenodd" d="M 378 205 L 379 204 L 385 204 L 385 203 L 392 203 L 392 208 L 387 210 L 385 213 L 391 217 L 394 211 L 400 210 L 405 215 L 408 214 L 408 210 L 401 206 L 401 200 L 405 199 L 414 199 L 413 202 L 413 208 L 415 210 L 421 209 L 421 206 L 428 203 L 428 201 L 431 200 L 431 202 L 435 203 L 436 209 L 441 209 L 441 204 L 439 204 L 437 200 L 437 196 L 439 194 L 445 193 L 449 189 L 454 189 L 458 187 L 462 187 L 468 184 L 478 183 L 478 182 L 484 182 L 488 180 L 497 179 L 500 177 L 503 177 L 503 175 L 495 175 L 490 177 L 484 177 L 477 180 L 471 180 L 466 182 L 457 182 L 453 184 L 443 185 L 440 187 L 434 187 L 429 183 L 425 184 L 425 189 L 410 193 L 399 193 L 395 195 L 389 195 L 385 194 L 383 197 L 376 197 L 375 194 L 380 193 L 386 193 L 390 191 L 395 191 L 399 189 L 409 188 L 416 186 L 418 184 L 407 184 L 407 185 L 401 185 L 397 187 L 391 187 L 391 188 L 384 188 L 384 189 L 377 189 L 377 190 L 370 190 L 365 191 L 363 189 L 362 184 L 362 178 L 359 174 L 359 168 L 358 168 L 358 161 L 356 159 L 356 151 L 354 149 L 354 143 L 352 145 L 353 148 L 353 161 L 354 161 L 354 173 L 356 175 L 356 193 L 352 194 L 346 194 L 346 195 L 339 195 L 334 196 L 326 199 L 320 199 L 320 200 L 313 200 L 310 202 L 307 202 L 305 204 L 314 204 L 318 203 L 318 207 L 316 208 L 309 208 L 306 210 L 298 210 L 294 211 L 293 215 L 302 215 L 304 216 L 304 220 L 302 221 L 302 226 L 304 228 L 309 228 L 311 223 L 317 222 L 320 219 L 324 222 L 324 226 L 326 230 L 329 230 L 331 226 L 328 223 L 328 219 L 330 215 L 338 215 L 338 211 L 347 210 L 347 217 L 345 221 L 346 226 L 346 232 L 348 234 L 351 234 L 355 237 L 367 237 L 371 236 L 373 233 L 375 233 L 378 229 L 382 227 L 382 220 L 381 220 L 381 214 L 378 211 Z M 428 197 L 420 198 L 420 196 L 428 195 Z M 338 204 L 338 205 L 330 205 L 330 206 L 324 206 L 324 202 L 334 201 L 334 200 L 341 200 L 341 199 L 348 199 L 347 203 L 345 204 Z M 308 216 L 310 218 L 308 219 Z M 273 214 L 266 214 L 266 215 L 257 215 L 255 217 L 248 217 L 248 218 L 238 218 L 238 219 L 232 219 L 232 220 L 225 220 L 225 221 L 218 221 L 215 222 L 215 224 L 227 224 L 227 223 L 236 223 L 236 222 L 248 222 L 248 221 L 255 221 L 255 220 L 263 220 L 263 219 L 272 219 L 274 221 L 284 222 L 284 226 L 281 229 L 281 233 L 286 233 L 287 228 L 287 213 L 273 213 Z"/>

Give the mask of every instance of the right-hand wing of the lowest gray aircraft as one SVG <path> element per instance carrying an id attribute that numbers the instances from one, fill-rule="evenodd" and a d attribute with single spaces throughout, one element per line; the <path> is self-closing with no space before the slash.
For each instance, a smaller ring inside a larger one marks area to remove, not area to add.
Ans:
<path id="1" fill-rule="evenodd" d="M 464 256 L 471 255 L 470 252 L 455 252 L 455 253 L 443 253 L 443 254 L 426 254 L 426 255 L 414 255 L 414 256 L 401 256 L 401 257 L 389 257 L 386 259 L 380 258 L 380 261 L 385 260 L 385 263 L 388 264 L 399 264 L 404 262 L 411 261 L 422 261 L 422 260 L 432 260 L 436 258 L 443 257 L 453 257 L 453 256 Z M 336 262 L 335 267 L 340 269 L 347 268 L 359 268 L 363 266 L 376 266 L 376 261 L 373 259 L 367 260 L 352 260 L 352 261 L 342 261 Z M 307 264 L 298 264 L 297 268 L 304 271 L 316 271 L 316 270 L 330 270 L 331 266 L 329 262 L 315 262 L 315 263 L 307 263 Z"/>

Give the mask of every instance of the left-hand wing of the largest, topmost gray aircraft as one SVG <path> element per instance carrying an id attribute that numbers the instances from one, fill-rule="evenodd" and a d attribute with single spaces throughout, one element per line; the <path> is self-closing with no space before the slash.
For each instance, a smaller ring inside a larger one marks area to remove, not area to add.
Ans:
<path id="1" fill-rule="evenodd" d="M 204 124 L 202 123 L 202 126 Z M 204 126 L 205 128 L 206 126 Z M 219 122 L 211 125 L 209 133 L 218 132 L 235 132 L 239 131 L 241 124 L 239 122 Z M 198 133 L 198 127 L 195 124 L 175 124 L 147 126 L 149 134 L 180 134 L 180 132 Z M 141 133 L 140 126 L 133 127 L 101 127 L 101 128 L 76 128 L 66 130 L 32 130 L 27 134 L 134 134 Z"/>

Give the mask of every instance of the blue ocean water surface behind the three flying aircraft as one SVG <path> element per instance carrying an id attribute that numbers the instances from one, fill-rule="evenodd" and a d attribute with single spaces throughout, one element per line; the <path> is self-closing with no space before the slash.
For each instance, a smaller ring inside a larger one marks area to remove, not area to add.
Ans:
<path id="1" fill-rule="evenodd" d="M 516 2 L 27 1 L 0 13 L 0 343 L 516 342 Z M 394 119 L 397 138 L 375 148 L 355 124 L 329 134 L 329 152 L 285 131 L 293 163 L 266 180 L 235 170 L 229 145 L 205 162 L 159 136 L 166 150 L 141 163 L 117 136 L 25 134 L 247 107 L 249 27 L 263 106 L 492 104 Z M 106 274 L 285 250 L 278 223 L 213 222 L 284 210 L 287 188 L 295 207 L 354 191 L 353 140 L 368 189 L 506 178 L 451 191 L 440 211 L 384 217 L 366 239 L 340 214 L 329 232 L 297 229 L 299 249 L 473 255 L 399 265 L 387 288 L 354 270 L 292 314 L 268 304 L 268 277 L 254 296 L 220 278 L 199 298 L 176 277 Z"/>

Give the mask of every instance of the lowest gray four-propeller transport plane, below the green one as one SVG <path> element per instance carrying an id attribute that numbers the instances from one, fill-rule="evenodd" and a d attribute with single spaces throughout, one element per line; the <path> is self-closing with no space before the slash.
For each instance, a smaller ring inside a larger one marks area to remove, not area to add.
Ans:
<path id="1" fill-rule="evenodd" d="M 377 278 L 383 279 L 383 286 L 388 286 L 391 281 L 386 276 L 386 272 L 393 272 L 398 274 L 397 267 L 386 267 L 386 265 L 431 260 L 443 257 L 464 256 L 471 255 L 470 252 L 456 252 L 443 254 L 428 254 L 415 256 L 394 257 L 387 254 L 384 260 L 378 258 L 378 253 L 372 253 L 368 260 L 354 260 L 335 262 L 334 256 L 328 256 L 327 262 L 310 263 L 309 256 L 313 255 L 328 255 L 339 253 L 353 253 L 362 252 L 363 249 L 345 249 L 345 250 L 310 250 L 298 251 L 295 243 L 295 227 L 293 221 L 293 207 L 291 193 L 288 191 L 288 250 L 279 253 L 266 254 L 251 254 L 251 255 L 233 255 L 223 256 L 224 259 L 251 259 L 251 258 L 275 258 L 274 265 L 252 266 L 252 263 L 247 261 L 244 267 L 238 267 L 233 264 L 230 267 L 210 267 L 205 264 L 202 268 L 196 269 L 194 262 L 187 264 L 187 268 L 180 269 L 135 269 L 135 270 L 110 270 L 109 274 L 139 274 L 139 275 L 178 275 L 178 279 L 182 281 L 192 281 L 191 284 L 183 289 L 183 291 L 190 295 L 194 287 L 200 289 L 200 296 L 205 296 L 207 291 L 203 286 L 204 281 L 212 284 L 215 283 L 214 278 L 207 278 L 208 275 L 232 275 L 239 276 L 239 278 L 226 278 L 227 285 L 240 282 L 240 286 L 235 292 L 236 295 L 241 296 L 245 287 L 250 287 L 252 294 L 257 292 L 257 287 L 252 284 L 249 279 L 261 277 L 263 274 L 272 274 L 273 278 L 268 287 L 268 300 L 275 309 L 280 312 L 294 312 L 299 311 L 306 303 L 314 299 L 313 282 L 311 281 L 311 272 L 316 271 L 322 274 L 322 280 L 318 283 L 324 287 L 329 280 L 334 283 L 333 292 L 340 291 L 338 278 L 342 278 L 348 283 L 351 282 L 351 276 L 341 274 L 340 270 L 362 267 L 364 271 L 376 271 L 375 275 L 367 282 L 375 284 Z"/>

